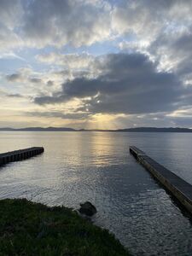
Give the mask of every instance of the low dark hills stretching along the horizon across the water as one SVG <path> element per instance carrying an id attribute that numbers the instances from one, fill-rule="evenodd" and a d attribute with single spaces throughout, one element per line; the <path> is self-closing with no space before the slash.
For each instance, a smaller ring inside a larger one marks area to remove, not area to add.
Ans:
<path id="1" fill-rule="evenodd" d="M 92 129 L 92 130 L 86 130 L 86 129 L 79 129 L 75 130 L 73 128 L 67 128 L 67 127 L 26 127 L 26 128 L 9 128 L 4 127 L 0 128 L 0 131 L 110 131 L 110 132 L 192 132 L 192 129 L 189 128 L 158 128 L 158 127 L 137 127 L 137 128 L 127 128 L 127 129 L 118 129 L 118 130 L 100 130 L 100 129 Z"/>

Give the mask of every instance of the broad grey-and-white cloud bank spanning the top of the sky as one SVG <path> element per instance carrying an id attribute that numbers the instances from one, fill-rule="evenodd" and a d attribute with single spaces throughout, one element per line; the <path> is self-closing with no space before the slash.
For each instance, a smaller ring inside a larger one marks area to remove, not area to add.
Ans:
<path id="1" fill-rule="evenodd" d="M 151 44 L 162 32 L 190 26 L 191 12 L 188 0 L 2 0 L 0 48 L 80 47 L 125 35 L 139 48 Z M 39 55 L 39 60 L 51 57 Z"/>

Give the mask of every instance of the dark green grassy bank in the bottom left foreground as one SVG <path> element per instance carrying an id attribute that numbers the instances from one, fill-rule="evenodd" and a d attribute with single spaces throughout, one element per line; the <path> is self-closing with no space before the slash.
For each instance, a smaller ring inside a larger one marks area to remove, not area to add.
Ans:
<path id="1" fill-rule="evenodd" d="M 107 230 L 66 207 L 0 201 L 0 255 L 130 255 Z"/>

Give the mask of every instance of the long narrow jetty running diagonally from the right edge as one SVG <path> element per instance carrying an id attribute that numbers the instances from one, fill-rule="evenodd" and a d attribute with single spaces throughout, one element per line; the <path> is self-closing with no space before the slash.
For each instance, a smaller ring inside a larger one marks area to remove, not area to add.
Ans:
<path id="1" fill-rule="evenodd" d="M 161 166 L 139 148 L 130 147 L 130 153 L 150 172 L 183 207 L 192 213 L 192 185 Z"/>

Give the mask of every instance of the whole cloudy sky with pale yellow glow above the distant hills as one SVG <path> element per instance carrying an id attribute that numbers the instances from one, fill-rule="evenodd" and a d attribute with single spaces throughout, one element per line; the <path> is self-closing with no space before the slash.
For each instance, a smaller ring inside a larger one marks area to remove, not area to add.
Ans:
<path id="1" fill-rule="evenodd" d="M 0 0 L 0 127 L 192 128 L 191 0 Z"/>

